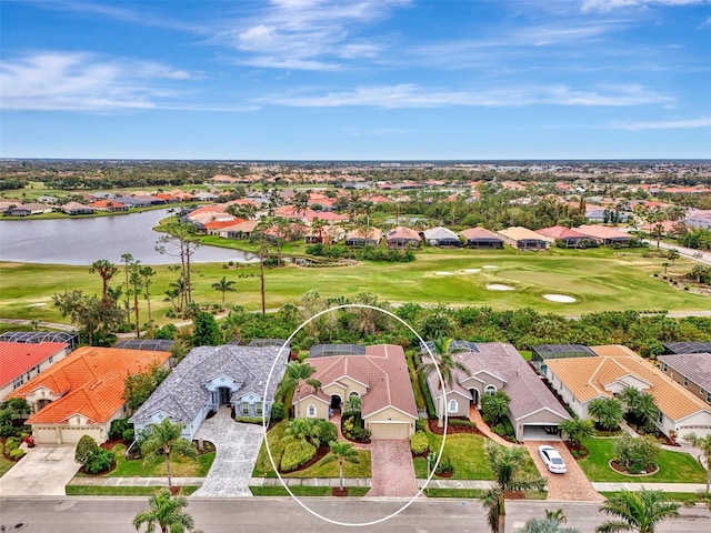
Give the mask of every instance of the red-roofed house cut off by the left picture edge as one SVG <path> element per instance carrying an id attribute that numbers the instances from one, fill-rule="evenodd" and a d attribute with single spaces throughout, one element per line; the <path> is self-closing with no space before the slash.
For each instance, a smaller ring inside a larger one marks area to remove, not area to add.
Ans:
<path id="1" fill-rule="evenodd" d="M 67 356 L 66 342 L 0 342 L 0 402 Z"/>

